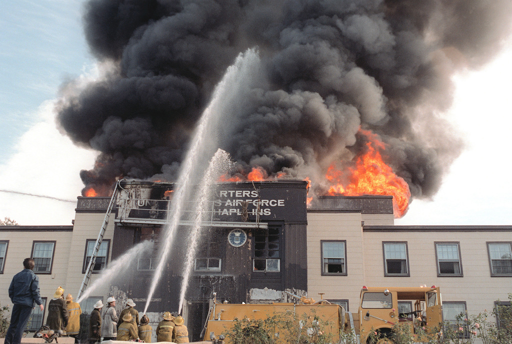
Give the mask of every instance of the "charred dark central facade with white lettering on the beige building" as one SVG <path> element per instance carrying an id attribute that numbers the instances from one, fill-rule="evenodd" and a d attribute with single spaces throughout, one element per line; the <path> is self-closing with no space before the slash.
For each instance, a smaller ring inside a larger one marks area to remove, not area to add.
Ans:
<path id="1" fill-rule="evenodd" d="M 156 244 L 165 240 L 164 225 L 137 222 L 163 218 L 161 210 L 166 208 L 168 198 L 165 192 L 172 190 L 173 185 L 142 184 L 151 187 L 148 194 L 153 201 L 140 199 L 137 209 L 130 211 L 128 219 L 119 220 L 118 209 L 113 260 L 142 240 L 153 239 Z M 185 296 L 187 312 L 190 312 L 188 327 L 191 339 L 199 340 L 208 302 L 214 292 L 222 301 L 240 303 L 248 302 L 249 290 L 253 288 L 307 290 L 306 196 L 305 181 L 219 185 L 211 216 L 216 225 L 201 231 L 193 274 Z M 242 201 L 248 203 L 244 206 Z M 244 209 L 247 211 L 245 218 Z M 261 221 L 260 225 L 257 221 Z M 230 232 L 237 228 L 237 222 L 238 228 L 247 236 L 245 244 L 240 247 L 231 245 L 228 238 Z M 183 267 L 191 240 L 189 232 L 189 226 L 179 227 L 149 312 L 178 311 Z M 155 245 L 153 255 L 139 259 L 138 266 L 134 267 L 136 277 L 126 279 L 124 285 L 118 286 L 140 303 L 145 303 L 155 274 L 158 246 Z"/>

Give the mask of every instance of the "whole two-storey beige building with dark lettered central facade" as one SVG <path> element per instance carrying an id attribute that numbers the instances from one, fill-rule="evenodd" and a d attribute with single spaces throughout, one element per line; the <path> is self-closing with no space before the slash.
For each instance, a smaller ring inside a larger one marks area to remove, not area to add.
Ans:
<path id="1" fill-rule="evenodd" d="M 156 326 L 164 311 L 178 311 L 193 226 L 185 216 L 148 302 L 175 185 L 122 181 L 120 187 L 82 309 L 90 313 L 98 299 L 111 295 L 120 300 L 120 309 L 132 298 L 139 312 L 149 303 Z M 353 311 L 364 285 L 436 285 L 443 292 L 445 320 L 506 303 L 511 226 L 394 226 L 392 196 L 322 196 L 308 207 L 307 190 L 302 180 L 217 185 L 199 232 L 182 310 L 191 339 L 200 337 L 214 292 L 222 301 L 256 303 L 287 300 L 284 291 L 315 299 L 323 293 Z M 73 226 L 1 227 L 2 305 L 9 303 L 10 277 L 27 256 L 36 261 L 47 301 L 59 285 L 76 297 L 109 201 L 78 197 Z M 126 252 L 151 241 L 153 249 L 126 258 Z M 406 312 L 412 305 L 400 307 Z M 46 318 L 46 311 L 34 312 L 32 329 Z"/>

